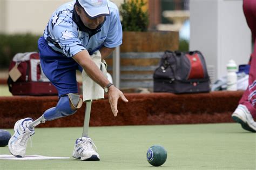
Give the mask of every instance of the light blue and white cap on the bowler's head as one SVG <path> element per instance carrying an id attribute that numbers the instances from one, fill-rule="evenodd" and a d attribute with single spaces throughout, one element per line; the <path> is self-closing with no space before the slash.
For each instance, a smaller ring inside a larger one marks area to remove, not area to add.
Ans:
<path id="1" fill-rule="evenodd" d="M 107 0 L 78 0 L 90 18 L 97 18 L 103 15 L 110 15 Z"/>

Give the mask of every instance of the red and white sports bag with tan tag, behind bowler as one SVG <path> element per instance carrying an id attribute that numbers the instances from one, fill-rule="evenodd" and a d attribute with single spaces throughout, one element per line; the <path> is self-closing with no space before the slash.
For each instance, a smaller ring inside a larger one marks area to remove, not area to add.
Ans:
<path id="1" fill-rule="evenodd" d="M 43 73 L 37 52 L 17 53 L 9 66 L 9 91 L 13 95 L 56 95 L 58 91 Z"/>

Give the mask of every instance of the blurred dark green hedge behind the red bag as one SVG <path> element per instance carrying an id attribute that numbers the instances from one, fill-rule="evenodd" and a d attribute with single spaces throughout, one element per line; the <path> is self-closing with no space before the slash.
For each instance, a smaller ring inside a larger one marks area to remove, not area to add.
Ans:
<path id="1" fill-rule="evenodd" d="M 32 34 L 5 35 L 0 34 L 0 67 L 6 69 L 16 53 L 37 50 L 37 40 L 40 36 Z"/>

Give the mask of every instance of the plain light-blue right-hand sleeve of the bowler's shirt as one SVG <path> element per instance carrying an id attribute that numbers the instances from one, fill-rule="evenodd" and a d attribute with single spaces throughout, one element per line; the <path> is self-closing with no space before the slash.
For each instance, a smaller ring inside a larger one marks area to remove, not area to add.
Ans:
<path id="1" fill-rule="evenodd" d="M 118 10 L 111 17 L 109 32 L 104 42 L 105 47 L 113 48 L 122 44 L 123 31 Z"/>

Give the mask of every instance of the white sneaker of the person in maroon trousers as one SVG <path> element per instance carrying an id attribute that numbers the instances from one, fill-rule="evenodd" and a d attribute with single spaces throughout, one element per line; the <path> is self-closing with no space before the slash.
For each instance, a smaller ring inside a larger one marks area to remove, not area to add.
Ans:
<path id="1" fill-rule="evenodd" d="M 252 114 L 245 105 L 238 105 L 237 109 L 232 114 L 232 118 L 234 121 L 241 124 L 242 128 L 245 130 L 256 132 L 256 122 L 253 120 Z"/>

